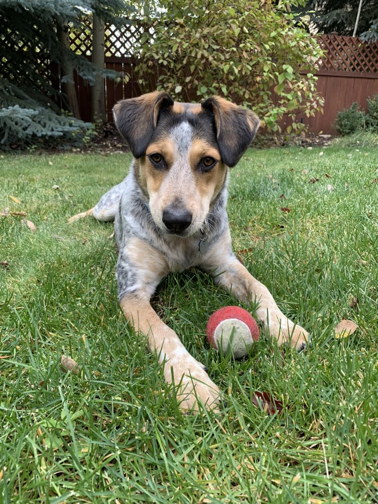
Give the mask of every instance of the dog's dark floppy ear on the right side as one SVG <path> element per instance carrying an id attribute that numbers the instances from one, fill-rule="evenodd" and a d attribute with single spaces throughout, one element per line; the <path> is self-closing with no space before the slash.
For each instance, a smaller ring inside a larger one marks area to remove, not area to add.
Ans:
<path id="1" fill-rule="evenodd" d="M 222 161 L 235 166 L 257 133 L 259 117 L 219 96 L 208 98 L 201 105 L 213 111 Z"/>

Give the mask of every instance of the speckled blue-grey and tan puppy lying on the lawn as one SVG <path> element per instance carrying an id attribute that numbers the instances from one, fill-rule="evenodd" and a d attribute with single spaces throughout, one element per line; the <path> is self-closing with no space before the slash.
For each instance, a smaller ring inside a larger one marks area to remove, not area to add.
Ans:
<path id="1" fill-rule="evenodd" d="M 160 320 L 150 299 L 170 272 L 199 267 L 236 299 L 257 302 L 258 319 L 279 344 L 306 348 L 307 332 L 284 316 L 231 249 L 228 171 L 249 147 L 260 120 L 221 97 L 180 103 L 158 91 L 119 101 L 113 114 L 134 156 L 130 172 L 70 222 L 86 215 L 114 220 L 118 301 L 125 318 L 148 338 L 182 410 L 198 411 L 202 404 L 219 411 L 219 388 Z"/>

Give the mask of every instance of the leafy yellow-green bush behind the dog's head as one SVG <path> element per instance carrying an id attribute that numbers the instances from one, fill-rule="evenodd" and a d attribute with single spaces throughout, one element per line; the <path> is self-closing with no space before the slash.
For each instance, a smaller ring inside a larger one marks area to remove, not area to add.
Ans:
<path id="1" fill-rule="evenodd" d="M 221 94 L 253 108 L 274 131 L 284 114 L 314 114 L 321 105 L 314 77 L 321 50 L 303 20 L 290 14 L 292 4 L 298 3 L 161 2 L 159 13 L 143 20 L 141 86 L 186 101 Z"/>

